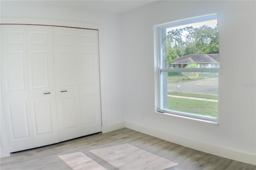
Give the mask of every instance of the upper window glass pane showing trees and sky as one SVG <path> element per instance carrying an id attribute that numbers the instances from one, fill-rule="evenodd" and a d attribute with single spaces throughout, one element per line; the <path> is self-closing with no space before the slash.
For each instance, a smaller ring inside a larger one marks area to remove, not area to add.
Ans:
<path id="1" fill-rule="evenodd" d="M 208 20 L 175 27 L 159 29 L 160 67 L 185 68 L 188 63 L 197 63 L 198 67 L 218 64 L 218 56 L 193 58 L 190 54 L 218 54 L 218 20 Z M 183 57 L 182 59 L 179 59 Z M 214 58 L 217 57 L 217 58 Z M 196 59 L 196 60 L 195 60 Z"/>

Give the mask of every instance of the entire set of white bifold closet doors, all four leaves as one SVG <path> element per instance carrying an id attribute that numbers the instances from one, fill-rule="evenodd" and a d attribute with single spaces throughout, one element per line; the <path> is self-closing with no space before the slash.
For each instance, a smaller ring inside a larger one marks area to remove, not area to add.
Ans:
<path id="1" fill-rule="evenodd" d="M 98 30 L 1 25 L 10 152 L 101 132 L 99 71 Z"/>

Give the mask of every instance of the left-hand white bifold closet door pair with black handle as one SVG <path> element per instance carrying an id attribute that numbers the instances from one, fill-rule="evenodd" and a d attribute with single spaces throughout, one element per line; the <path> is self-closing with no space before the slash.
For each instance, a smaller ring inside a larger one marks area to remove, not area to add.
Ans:
<path id="1" fill-rule="evenodd" d="M 1 25 L 1 95 L 10 152 L 59 141 L 52 34 L 48 26 Z"/>

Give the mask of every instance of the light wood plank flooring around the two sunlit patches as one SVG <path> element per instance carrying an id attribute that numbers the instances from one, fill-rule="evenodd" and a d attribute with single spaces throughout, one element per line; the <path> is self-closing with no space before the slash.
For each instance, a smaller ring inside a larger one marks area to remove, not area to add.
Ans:
<path id="1" fill-rule="evenodd" d="M 94 134 L 50 146 L 14 153 L 1 158 L 1 170 L 68 170 L 57 156 L 73 152 L 84 152 L 108 170 L 114 166 L 102 160 L 89 150 L 117 144 L 129 143 L 138 148 L 178 163 L 170 170 L 256 170 L 256 166 L 212 154 L 207 154 L 178 144 L 149 136 L 128 128 L 105 134 Z"/>

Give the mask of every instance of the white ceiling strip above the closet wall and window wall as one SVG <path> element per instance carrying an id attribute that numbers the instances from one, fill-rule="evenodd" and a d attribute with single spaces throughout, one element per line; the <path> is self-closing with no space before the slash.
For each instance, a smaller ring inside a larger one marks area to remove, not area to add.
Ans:
<path id="1" fill-rule="evenodd" d="M 156 0 L 44 0 L 40 2 L 102 12 L 125 13 L 155 1 Z"/>

